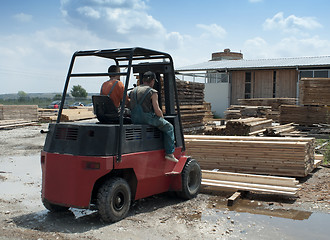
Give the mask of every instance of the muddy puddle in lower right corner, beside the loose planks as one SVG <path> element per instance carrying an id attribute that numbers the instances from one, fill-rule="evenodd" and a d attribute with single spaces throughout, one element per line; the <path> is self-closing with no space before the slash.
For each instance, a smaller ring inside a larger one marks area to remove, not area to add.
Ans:
<path id="1" fill-rule="evenodd" d="M 227 207 L 225 200 L 213 201 L 208 207 L 201 219 L 220 225 L 222 231 L 238 239 L 329 239 L 327 213 L 272 208 L 246 199 L 232 207 Z"/>

